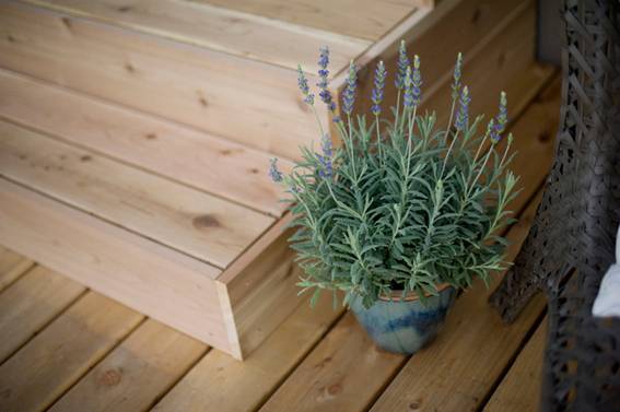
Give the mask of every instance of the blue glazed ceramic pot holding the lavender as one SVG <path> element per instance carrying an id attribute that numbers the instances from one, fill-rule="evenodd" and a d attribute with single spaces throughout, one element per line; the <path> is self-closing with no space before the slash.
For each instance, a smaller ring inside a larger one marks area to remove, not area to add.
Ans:
<path id="1" fill-rule="evenodd" d="M 381 297 L 369 309 L 356 297 L 351 309 L 379 348 L 410 355 L 436 337 L 454 303 L 454 287 L 443 284 L 437 290 L 438 295 L 426 297 L 425 305 L 416 294 L 401 298 L 400 293 L 395 293 L 391 297 Z"/>

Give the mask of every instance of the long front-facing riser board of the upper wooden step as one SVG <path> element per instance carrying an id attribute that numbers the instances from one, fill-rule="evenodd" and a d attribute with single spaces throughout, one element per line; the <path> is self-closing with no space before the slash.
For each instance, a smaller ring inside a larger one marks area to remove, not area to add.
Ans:
<path id="1" fill-rule="evenodd" d="M 320 140 L 294 70 L 15 2 L 0 3 L 0 37 L 4 69 L 288 158 Z"/>

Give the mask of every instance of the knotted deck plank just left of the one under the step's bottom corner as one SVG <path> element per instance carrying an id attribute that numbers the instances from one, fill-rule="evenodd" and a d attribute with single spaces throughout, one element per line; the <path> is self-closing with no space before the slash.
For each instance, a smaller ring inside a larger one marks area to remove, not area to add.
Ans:
<path id="1" fill-rule="evenodd" d="M 86 374 L 50 411 L 144 411 L 208 346 L 147 320 Z"/>

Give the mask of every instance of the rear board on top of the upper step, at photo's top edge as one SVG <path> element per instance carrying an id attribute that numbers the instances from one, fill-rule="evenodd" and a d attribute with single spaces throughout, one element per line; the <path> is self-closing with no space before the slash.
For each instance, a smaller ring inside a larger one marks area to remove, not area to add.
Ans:
<path id="1" fill-rule="evenodd" d="M 217 4 L 301 26 L 378 40 L 428 1 L 421 0 L 184 0 Z"/>

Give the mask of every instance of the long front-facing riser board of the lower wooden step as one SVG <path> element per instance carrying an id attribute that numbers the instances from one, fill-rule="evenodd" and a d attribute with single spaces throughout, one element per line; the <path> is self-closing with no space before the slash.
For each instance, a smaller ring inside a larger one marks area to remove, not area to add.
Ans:
<path id="1" fill-rule="evenodd" d="M 215 268 L 0 179 L 0 243 L 224 351 Z M 105 275 L 102 275 L 105 273 Z"/>

